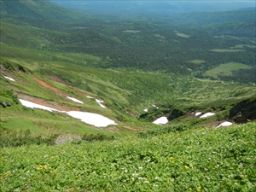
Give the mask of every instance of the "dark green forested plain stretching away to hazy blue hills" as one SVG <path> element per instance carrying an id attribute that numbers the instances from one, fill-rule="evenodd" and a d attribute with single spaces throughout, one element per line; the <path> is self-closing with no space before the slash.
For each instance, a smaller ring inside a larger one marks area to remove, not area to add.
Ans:
<path id="1" fill-rule="evenodd" d="M 37 3 L 1 1 L 2 44 L 101 58 L 101 62 L 86 62 L 87 67 L 125 67 L 240 83 L 256 82 L 253 10 L 144 15 L 122 20 L 92 18 L 89 13 L 75 13 L 47 1 Z M 44 15 L 36 11 L 37 6 Z M 1 55 L 11 54 L 1 51 Z M 63 58 L 54 55 L 51 61 L 63 61 Z M 230 62 L 251 68 L 237 69 L 231 75 L 220 74 L 218 78 L 205 75 L 207 70 Z M 76 63 L 84 65 L 79 58 Z"/>

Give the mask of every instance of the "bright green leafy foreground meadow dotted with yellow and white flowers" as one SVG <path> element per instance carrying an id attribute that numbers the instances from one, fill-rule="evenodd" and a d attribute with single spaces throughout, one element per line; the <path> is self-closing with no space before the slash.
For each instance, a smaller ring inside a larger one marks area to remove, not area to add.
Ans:
<path id="1" fill-rule="evenodd" d="M 1 191 L 253 191 L 255 123 L 1 148 Z"/>

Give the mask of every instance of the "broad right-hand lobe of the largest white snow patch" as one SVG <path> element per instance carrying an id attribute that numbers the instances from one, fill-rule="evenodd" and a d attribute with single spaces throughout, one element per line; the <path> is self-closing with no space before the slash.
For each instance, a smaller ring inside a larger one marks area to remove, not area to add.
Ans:
<path id="1" fill-rule="evenodd" d="M 87 113 L 87 112 L 80 112 L 80 111 L 70 111 L 66 113 L 72 116 L 73 118 L 81 119 L 86 124 L 95 125 L 97 127 L 117 125 L 113 120 L 108 119 L 97 113 Z"/>

